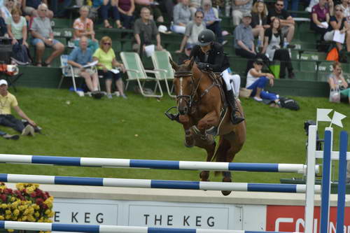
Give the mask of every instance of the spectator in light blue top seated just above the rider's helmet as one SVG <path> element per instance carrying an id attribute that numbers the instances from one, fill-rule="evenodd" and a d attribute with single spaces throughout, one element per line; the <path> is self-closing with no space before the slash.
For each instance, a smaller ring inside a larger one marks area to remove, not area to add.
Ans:
<path id="1" fill-rule="evenodd" d="M 216 36 L 216 41 L 218 43 L 227 43 L 227 41 L 223 41 L 223 32 L 221 31 L 221 19 L 216 15 L 214 8 L 211 6 L 211 0 L 203 0 L 202 8 L 200 8 L 204 12 L 203 21 L 207 24 L 207 29 L 211 29 L 214 31 Z"/>

